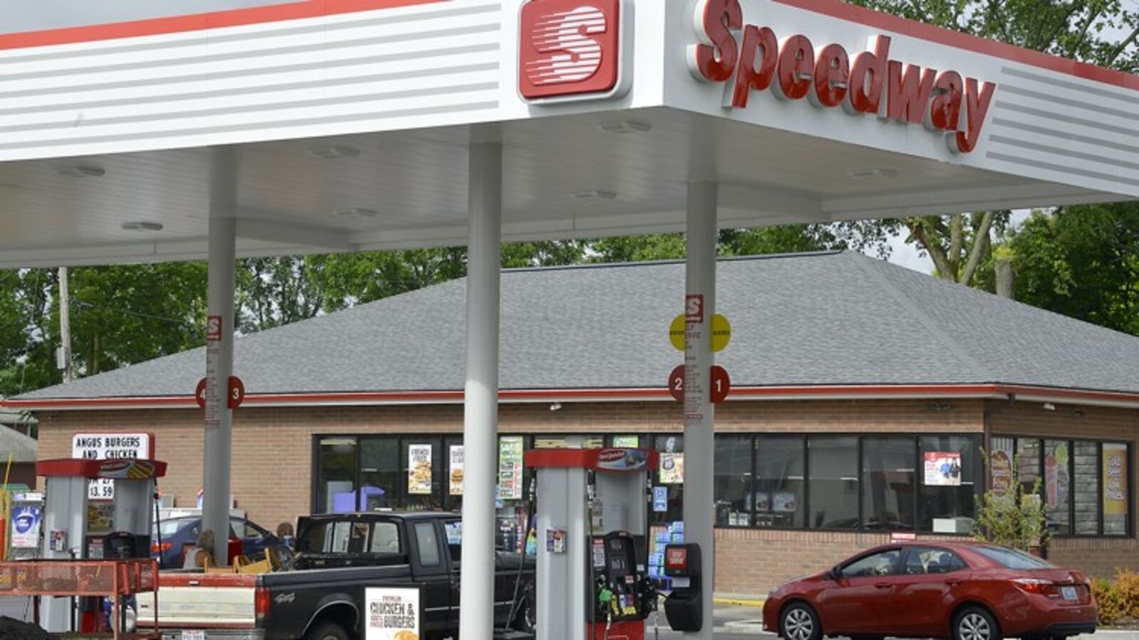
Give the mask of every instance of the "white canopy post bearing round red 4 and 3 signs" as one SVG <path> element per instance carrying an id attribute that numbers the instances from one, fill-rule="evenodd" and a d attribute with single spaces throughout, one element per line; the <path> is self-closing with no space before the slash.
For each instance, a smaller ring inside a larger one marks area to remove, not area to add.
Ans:
<path id="1" fill-rule="evenodd" d="M 237 157 L 216 149 L 210 183 L 210 320 L 206 322 L 206 409 L 203 452 L 203 531 L 214 533 L 214 558 L 229 564 L 232 419 L 229 377 L 233 372 L 233 262 L 236 260 Z"/>

